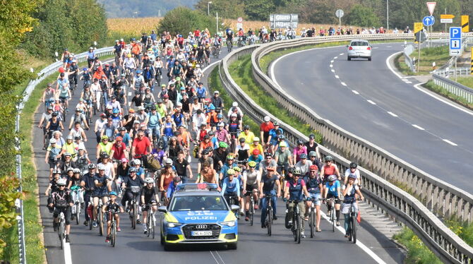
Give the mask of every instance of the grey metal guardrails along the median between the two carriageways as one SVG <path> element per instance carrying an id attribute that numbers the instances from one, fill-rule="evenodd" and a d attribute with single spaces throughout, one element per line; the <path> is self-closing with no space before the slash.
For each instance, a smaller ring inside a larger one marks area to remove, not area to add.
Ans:
<path id="1" fill-rule="evenodd" d="M 262 81 L 262 78 L 265 78 L 265 81 L 268 81 L 269 83 L 271 80 L 261 72 L 259 65 L 255 63 L 255 59 L 259 58 L 262 52 L 273 45 L 297 47 L 299 46 L 298 44 L 314 44 L 317 41 L 318 40 L 314 39 L 283 41 L 275 44 L 270 43 L 243 47 L 225 56 L 219 64 L 220 79 L 229 95 L 239 102 L 239 107 L 241 107 L 241 109 L 244 110 L 251 119 L 257 122 L 262 122 L 264 116 L 270 116 L 273 120 L 279 121 L 285 131 L 287 140 L 292 143 L 295 143 L 299 138 L 304 140 L 308 140 L 308 138 L 296 129 L 277 119 L 273 114 L 270 114 L 265 109 L 259 107 L 258 104 L 256 104 L 251 97 L 246 95 L 246 93 L 243 92 L 243 90 L 241 90 L 241 88 L 239 88 L 239 86 L 234 82 L 232 76 L 229 74 L 228 66 L 229 64 L 232 64 L 233 61 L 236 61 L 240 56 L 252 54 L 253 74 L 256 75 L 258 74 L 256 71 L 260 71 L 259 74 L 261 74 L 261 77 L 258 77 L 259 80 Z M 294 42 L 300 43 L 296 44 Z M 268 52 L 265 52 L 265 54 L 267 53 Z M 254 65 L 256 65 L 257 68 L 255 68 Z M 264 83 L 263 85 L 267 86 L 268 83 Z M 311 112 L 311 110 L 306 110 L 309 108 L 305 107 L 303 104 L 291 104 L 289 100 L 292 102 L 295 102 L 295 100 L 287 94 L 281 96 L 278 93 L 280 92 L 280 88 L 277 86 L 274 86 L 273 89 L 265 88 L 265 90 L 268 91 L 270 96 L 280 102 L 280 104 L 287 107 L 289 112 L 306 121 L 306 123 L 311 124 L 311 126 L 318 129 L 318 131 L 321 131 L 324 137 L 324 143 L 326 143 L 329 148 L 333 149 L 329 150 L 326 146 L 321 146 L 321 155 L 332 155 L 335 157 L 336 163 L 340 166 L 342 171 L 349 167 L 350 161 L 345 159 L 345 157 L 337 155 L 335 151 L 344 153 L 352 160 L 359 160 L 361 164 L 368 164 L 369 169 L 360 168 L 361 176 L 364 180 L 363 191 L 365 196 L 369 198 L 371 203 L 375 204 L 377 208 L 385 210 L 389 215 L 395 217 L 397 221 L 400 221 L 406 224 L 407 227 L 411 228 L 414 233 L 417 234 L 417 236 L 419 236 L 419 238 L 424 241 L 429 248 L 431 248 L 431 251 L 433 251 L 433 253 L 444 262 L 473 263 L 472 247 L 468 246 L 455 233 L 448 229 L 448 227 L 446 227 L 445 224 L 436 217 L 436 215 L 433 215 L 425 205 L 419 202 L 419 200 L 414 198 L 414 196 L 411 196 L 409 193 L 402 191 L 394 184 L 391 184 L 387 179 L 392 177 L 390 174 L 401 174 L 401 178 L 405 179 L 405 181 L 402 181 L 403 183 L 411 181 L 412 178 L 418 178 L 417 186 L 414 188 L 416 193 L 423 192 L 424 194 L 421 195 L 421 198 L 429 198 L 428 200 L 431 201 L 431 203 L 433 203 L 433 200 L 437 200 L 436 205 L 439 205 L 441 203 L 440 201 L 442 201 L 443 208 L 445 207 L 444 204 L 449 205 L 447 201 L 450 200 L 450 198 L 457 199 L 460 193 L 455 193 L 455 196 L 451 196 L 448 188 L 442 188 L 440 193 L 438 193 L 439 190 L 434 193 L 433 190 L 434 188 L 439 188 L 438 185 L 432 184 L 429 181 L 426 181 L 426 179 L 419 177 L 425 176 L 424 174 L 419 174 L 418 172 L 420 171 L 414 170 L 414 172 L 412 172 L 412 168 L 409 168 L 408 165 L 400 167 L 401 162 L 400 164 L 397 164 L 397 160 L 395 160 L 394 156 L 383 157 L 382 154 L 385 153 L 382 151 L 380 152 L 380 150 L 376 149 L 373 145 L 367 143 L 366 140 L 357 138 L 356 136 L 343 131 L 342 128 L 321 119 L 315 113 Z M 283 97 L 287 101 L 282 100 Z M 310 119 L 306 117 L 310 117 Z M 346 145 L 348 148 L 345 148 Z M 357 155 L 354 155 L 354 153 L 357 153 Z M 370 160 L 373 162 L 369 162 Z M 377 174 L 380 174 L 381 176 L 378 176 Z M 434 194 L 437 196 L 434 196 Z M 445 195 L 446 198 L 443 197 L 443 195 Z M 469 196 L 469 198 L 471 198 L 471 196 Z M 457 200 L 455 200 L 454 203 L 456 203 L 456 201 Z M 451 203 L 449 206 L 451 206 Z M 449 210 L 451 209 L 453 208 L 450 208 Z M 455 210 L 456 209 L 457 207 L 455 207 Z M 468 208 L 468 212 L 470 209 L 471 208 Z"/>

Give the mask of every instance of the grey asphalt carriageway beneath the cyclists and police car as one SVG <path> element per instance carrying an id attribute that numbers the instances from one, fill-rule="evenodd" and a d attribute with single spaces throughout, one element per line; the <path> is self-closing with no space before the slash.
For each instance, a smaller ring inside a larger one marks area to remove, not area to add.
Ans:
<path id="1" fill-rule="evenodd" d="M 72 106 L 76 105 L 78 97 L 79 92 L 76 92 L 70 102 Z M 39 107 L 39 111 L 35 113 L 35 126 L 40 119 L 42 109 L 42 106 Z M 191 246 L 174 252 L 164 252 L 159 242 L 159 231 L 154 240 L 146 237 L 141 225 L 136 230 L 131 229 L 126 214 L 121 215 L 122 231 L 118 233 L 115 248 L 104 242 L 104 236 L 98 235 L 98 229 L 90 231 L 82 223 L 76 225 L 73 222 L 71 244 L 67 244 L 65 249 L 61 250 L 57 234 L 52 229 L 52 214 L 45 207 L 47 197 L 44 196 L 44 190 L 48 183 L 48 167 L 44 164 L 42 136 L 39 128 L 35 128 L 34 132 L 32 144 L 40 186 L 40 212 L 48 263 L 290 263 L 294 259 L 307 263 L 313 263 L 314 260 L 316 263 L 333 263 L 334 261 L 347 263 L 350 260 L 357 260 L 359 263 L 402 263 L 404 259 L 404 253 L 393 241 L 366 222 L 361 222 L 360 243 L 356 245 L 350 244 L 343 237 L 342 232 L 328 231 L 330 226 L 325 220 L 321 223 L 323 232 L 317 233 L 316 238 L 303 239 L 301 244 L 294 244 L 292 234 L 285 229 L 283 224 L 285 207 L 281 200 L 278 201 L 277 206 L 280 219 L 275 222 L 273 236 L 268 237 L 266 230 L 259 226 L 260 212 L 258 211 L 253 227 L 249 226 L 249 222 L 239 221 L 239 248 L 236 251 L 226 250 L 221 246 Z M 86 131 L 86 133 L 90 140 L 85 146 L 90 153 L 95 153 L 95 137 L 92 131 Z M 92 154 L 91 157 L 93 156 Z M 93 158 L 91 160 L 95 161 Z M 193 169 L 196 175 L 195 162 L 193 162 Z M 80 222 L 83 222 L 83 216 Z M 309 233 L 306 232 L 306 234 Z"/>

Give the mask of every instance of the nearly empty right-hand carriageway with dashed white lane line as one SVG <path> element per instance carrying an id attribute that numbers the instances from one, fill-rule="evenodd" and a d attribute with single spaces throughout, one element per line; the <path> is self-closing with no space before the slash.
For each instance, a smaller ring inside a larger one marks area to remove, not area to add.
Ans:
<path id="1" fill-rule="evenodd" d="M 346 47 L 309 49 L 277 59 L 284 90 L 323 119 L 369 140 L 450 184 L 473 187 L 473 112 L 394 73 L 403 44 L 373 44 L 373 61 L 347 61 Z"/>

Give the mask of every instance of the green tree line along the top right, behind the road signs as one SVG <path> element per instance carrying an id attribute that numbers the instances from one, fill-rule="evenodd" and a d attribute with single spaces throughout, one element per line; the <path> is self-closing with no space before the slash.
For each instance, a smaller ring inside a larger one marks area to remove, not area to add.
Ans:
<path id="1" fill-rule="evenodd" d="M 469 15 L 473 19 L 471 0 L 436 0 L 433 16 L 437 18 L 434 30 L 442 30 L 440 15 L 446 12 L 455 15 L 453 24 L 460 25 L 460 16 Z M 195 8 L 207 13 L 208 0 L 200 0 Z M 421 22 L 429 16 L 426 1 L 420 0 L 212 0 L 210 13 L 224 18 L 239 16 L 248 20 L 269 20 L 271 13 L 298 13 L 304 23 L 338 24 L 335 11 L 342 9 L 345 16 L 342 24 L 359 27 L 387 27 L 389 3 L 390 28 L 412 28 L 414 22 Z M 473 28 L 473 27 L 470 27 Z"/>

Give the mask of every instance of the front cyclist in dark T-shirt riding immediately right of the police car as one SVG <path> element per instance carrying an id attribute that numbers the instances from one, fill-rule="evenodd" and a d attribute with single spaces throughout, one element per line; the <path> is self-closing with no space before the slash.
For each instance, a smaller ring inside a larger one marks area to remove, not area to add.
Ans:
<path id="1" fill-rule="evenodd" d="M 262 176 L 260 184 L 260 198 L 261 198 L 261 228 L 265 228 L 266 222 L 266 209 L 268 205 L 266 203 L 266 195 L 271 195 L 271 203 L 273 204 L 273 219 L 277 220 L 276 216 L 276 197 L 281 196 L 281 184 L 278 181 L 278 176 L 275 175 L 275 168 L 268 167 L 268 174 Z M 275 185 L 277 187 L 277 192 L 275 191 Z"/>

